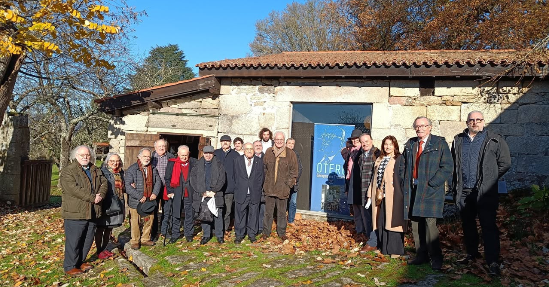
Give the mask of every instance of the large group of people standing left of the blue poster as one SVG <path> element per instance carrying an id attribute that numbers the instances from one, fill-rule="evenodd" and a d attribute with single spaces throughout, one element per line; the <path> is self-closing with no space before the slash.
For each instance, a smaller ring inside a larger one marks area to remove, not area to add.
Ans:
<path id="1" fill-rule="evenodd" d="M 93 268 L 84 261 L 94 239 L 100 259 L 114 255 L 107 245 L 113 228 L 124 223 L 126 206 L 132 249 L 154 246 L 161 234 L 170 244 L 176 243 L 181 236 L 182 211 L 183 235 L 192 242 L 197 214 L 203 202 L 210 200 L 216 211 L 212 221 L 201 221 L 200 244 L 208 243 L 212 229 L 217 241 L 225 243 L 232 217 L 234 243 L 242 243 L 246 235 L 251 243 L 257 241 L 257 235 L 268 238 L 275 206 L 277 234 L 288 239 L 286 227 L 294 224 L 302 170 L 299 154 L 293 150 L 295 140 L 263 128 L 254 143 L 244 144 L 237 137 L 232 149 L 231 137 L 226 135 L 220 142 L 221 148 L 206 145 L 203 157 L 195 159 L 187 145 L 178 147 L 175 156 L 167 152 L 166 141 L 159 139 L 154 151 L 141 149 L 137 162 L 125 172 L 118 154 L 109 153 L 99 168 L 94 165 L 91 148 L 81 145 L 72 150 L 71 164 L 60 173 L 65 273 L 79 275 Z M 160 204 L 163 212 L 159 218 Z"/>

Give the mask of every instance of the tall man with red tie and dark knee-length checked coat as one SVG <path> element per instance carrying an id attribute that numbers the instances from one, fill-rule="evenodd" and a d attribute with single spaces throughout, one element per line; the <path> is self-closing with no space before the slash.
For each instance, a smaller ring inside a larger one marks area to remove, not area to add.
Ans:
<path id="1" fill-rule="evenodd" d="M 442 217 L 444 183 L 453 171 L 452 155 L 444 137 L 431 134 L 433 125 L 427 117 L 417 117 L 413 123 L 417 137 L 404 144 L 404 217 L 412 221 L 416 258 L 409 265 L 429 262 L 431 268 L 442 268 L 439 230 L 436 218 Z"/>

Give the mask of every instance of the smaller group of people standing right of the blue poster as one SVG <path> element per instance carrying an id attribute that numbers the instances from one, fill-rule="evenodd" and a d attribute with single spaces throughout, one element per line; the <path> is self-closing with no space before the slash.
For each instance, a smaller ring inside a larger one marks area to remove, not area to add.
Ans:
<path id="1" fill-rule="evenodd" d="M 497 182 L 511 166 L 509 148 L 501 136 L 484 129 L 482 112 L 469 112 L 466 123 L 451 149 L 445 138 L 431 133 L 432 122 L 423 116 L 414 120 L 417 137 L 410 138 L 402 152 L 393 136 L 385 137 L 378 150 L 369 134 L 351 133 L 341 155 L 356 232 L 368 238 L 361 253 L 404 255 L 410 220 L 416 257 L 407 263 L 430 263 L 433 270 L 440 270 L 443 255 L 436 219 L 442 217 L 448 181 L 460 211 L 467 251 L 457 263 L 468 264 L 480 257 L 478 216 L 488 273 L 500 274 Z"/>

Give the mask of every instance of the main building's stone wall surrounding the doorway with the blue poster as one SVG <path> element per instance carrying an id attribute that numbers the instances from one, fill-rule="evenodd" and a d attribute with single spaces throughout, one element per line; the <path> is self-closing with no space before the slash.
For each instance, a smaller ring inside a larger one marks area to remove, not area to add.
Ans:
<path id="1" fill-rule="evenodd" d="M 239 136 L 244 142 L 258 138 L 261 127 L 287 135 L 292 122 L 292 103 L 371 103 L 372 137 L 389 134 L 400 148 L 416 136 L 413 120 L 426 116 L 433 133 L 453 137 L 466 128 L 469 111 L 484 113 L 487 128 L 506 138 L 512 155 L 505 176 L 508 188 L 549 184 L 549 82 L 497 85 L 473 80 L 434 81 L 420 88 L 419 80 L 330 80 L 281 78 L 223 78 L 219 104 L 219 136 Z"/>

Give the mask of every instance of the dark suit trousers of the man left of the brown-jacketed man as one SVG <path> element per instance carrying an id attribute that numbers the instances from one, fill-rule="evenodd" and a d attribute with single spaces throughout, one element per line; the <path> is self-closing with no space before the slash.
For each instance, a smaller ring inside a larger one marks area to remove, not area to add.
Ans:
<path id="1" fill-rule="evenodd" d="M 255 237 L 259 228 L 259 202 L 251 203 L 248 194 L 243 204 L 235 202 L 234 213 L 234 232 L 237 237 L 244 238 L 246 232 L 249 238 Z"/>

